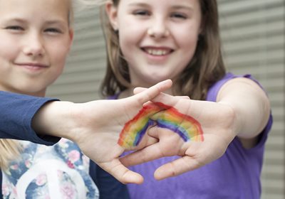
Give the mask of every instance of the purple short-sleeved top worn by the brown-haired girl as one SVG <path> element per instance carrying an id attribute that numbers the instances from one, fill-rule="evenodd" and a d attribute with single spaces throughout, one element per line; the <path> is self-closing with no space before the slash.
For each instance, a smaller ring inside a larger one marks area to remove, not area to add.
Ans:
<path id="1" fill-rule="evenodd" d="M 227 73 L 222 80 L 209 89 L 207 101 L 215 102 L 219 89 L 225 82 L 235 77 Z M 254 80 L 256 81 L 256 80 Z M 177 156 L 160 158 L 155 161 L 132 166 L 132 171 L 145 178 L 142 185 L 128 184 L 132 199 L 258 199 L 261 195 L 261 167 L 264 155 L 264 144 L 271 128 L 270 116 L 264 131 L 260 134 L 259 143 L 252 149 L 244 149 L 239 139 L 235 138 L 226 153 L 216 161 L 202 166 L 195 171 L 180 176 L 156 181 L 153 177 L 155 169 L 163 163 L 174 160 Z"/>

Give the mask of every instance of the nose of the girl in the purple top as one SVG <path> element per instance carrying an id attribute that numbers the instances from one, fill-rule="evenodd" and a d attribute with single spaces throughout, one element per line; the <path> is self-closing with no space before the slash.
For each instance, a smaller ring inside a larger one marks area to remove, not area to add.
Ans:
<path id="1" fill-rule="evenodd" d="M 152 24 L 147 30 L 147 34 L 152 38 L 166 38 L 170 35 L 170 32 L 163 18 L 153 18 Z"/>

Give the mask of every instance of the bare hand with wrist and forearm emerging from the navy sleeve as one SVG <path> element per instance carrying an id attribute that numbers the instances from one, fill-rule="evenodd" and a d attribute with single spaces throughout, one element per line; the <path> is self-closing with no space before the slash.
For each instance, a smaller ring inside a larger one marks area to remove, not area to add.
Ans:
<path id="1" fill-rule="evenodd" d="M 120 131 L 140 112 L 143 104 L 169 89 L 171 85 L 171 80 L 165 80 L 138 95 L 124 99 L 86 103 L 48 102 L 33 117 L 32 126 L 39 135 L 58 136 L 74 141 L 83 154 L 118 181 L 142 183 L 142 176 L 130 171 L 119 160 L 125 151 L 118 144 Z M 157 112 L 160 110 L 157 109 Z M 157 139 L 150 136 L 145 137 L 133 149 L 142 149 L 156 141 Z"/>

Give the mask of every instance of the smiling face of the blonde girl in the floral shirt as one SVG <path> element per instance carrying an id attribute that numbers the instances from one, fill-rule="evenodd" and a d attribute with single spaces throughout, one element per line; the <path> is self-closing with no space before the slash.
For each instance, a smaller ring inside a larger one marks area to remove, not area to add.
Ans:
<path id="1" fill-rule="evenodd" d="M 69 0 L 0 0 L 0 90 L 43 96 L 61 75 L 69 8 Z"/>

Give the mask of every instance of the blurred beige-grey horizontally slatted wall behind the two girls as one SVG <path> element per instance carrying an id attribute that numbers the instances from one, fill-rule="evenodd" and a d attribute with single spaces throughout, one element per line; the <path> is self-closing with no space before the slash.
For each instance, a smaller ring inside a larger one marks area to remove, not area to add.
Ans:
<path id="1" fill-rule="evenodd" d="M 217 1 L 228 70 L 237 75 L 254 75 L 271 100 L 274 125 L 266 143 L 262 199 L 284 199 L 285 1 Z M 75 41 L 66 68 L 47 96 L 71 102 L 100 99 L 105 43 L 98 7 L 77 11 L 74 28 Z"/>

